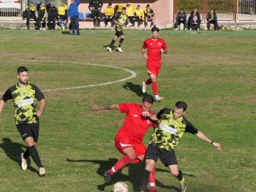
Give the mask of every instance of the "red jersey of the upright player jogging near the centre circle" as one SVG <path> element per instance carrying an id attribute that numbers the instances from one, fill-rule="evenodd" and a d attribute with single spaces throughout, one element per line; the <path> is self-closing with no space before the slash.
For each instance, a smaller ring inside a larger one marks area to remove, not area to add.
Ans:
<path id="1" fill-rule="evenodd" d="M 146 39 L 143 44 L 143 49 L 148 48 L 147 65 L 160 66 L 161 65 L 161 49 L 166 50 L 167 46 L 164 39 Z"/>

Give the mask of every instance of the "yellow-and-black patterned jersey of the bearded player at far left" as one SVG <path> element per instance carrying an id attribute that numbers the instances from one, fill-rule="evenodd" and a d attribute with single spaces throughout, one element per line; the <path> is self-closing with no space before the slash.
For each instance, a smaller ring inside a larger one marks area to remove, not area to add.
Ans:
<path id="1" fill-rule="evenodd" d="M 14 118 L 16 125 L 18 123 L 38 122 L 38 117 L 35 115 L 37 112 L 35 99 L 41 101 L 42 99 L 45 99 L 45 96 L 36 85 L 28 83 L 24 88 L 20 88 L 18 84 L 13 85 L 7 89 L 2 97 L 4 102 L 9 99 L 12 99 L 14 103 Z"/>

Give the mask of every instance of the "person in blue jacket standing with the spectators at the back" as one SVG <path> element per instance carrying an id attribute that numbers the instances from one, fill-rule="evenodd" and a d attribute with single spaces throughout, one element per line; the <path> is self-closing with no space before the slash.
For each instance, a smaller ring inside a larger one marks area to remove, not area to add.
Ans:
<path id="1" fill-rule="evenodd" d="M 77 31 L 77 35 L 79 33 L 79 23 L 78 23 L 78 6 L 80 4 L 80 0 L 71 0 L 71 4 L 69 5 L 69 17 L 70 23 L 72 26 L 72 34 L 75 35 L 75 30 Z"/>

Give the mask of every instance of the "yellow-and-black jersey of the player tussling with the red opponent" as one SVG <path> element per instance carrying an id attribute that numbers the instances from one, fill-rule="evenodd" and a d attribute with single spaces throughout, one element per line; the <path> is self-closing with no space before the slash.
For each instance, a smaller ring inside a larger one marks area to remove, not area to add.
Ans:
<path id="1" fill-rule="evenodd" d="M 151 136 L 150 145 L 166 150 L 174 150 L 185 132 L 197 134 L 197 128 L 184 116 L 173 118 L 173 110 L 164 108 L 157 113 L 157 128 Z"/>

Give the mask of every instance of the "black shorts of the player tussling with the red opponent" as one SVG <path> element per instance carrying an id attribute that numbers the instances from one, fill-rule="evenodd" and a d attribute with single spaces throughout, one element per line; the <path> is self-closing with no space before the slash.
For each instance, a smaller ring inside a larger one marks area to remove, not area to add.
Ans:
<path id="1" fill-rule="evenodd" d="M 165 166 L 178 164 L 174 150 L 165 150 L 154 145 L 148 145 L 146 159 L 153 159 L 157 162 L 158 158 Z"/>

